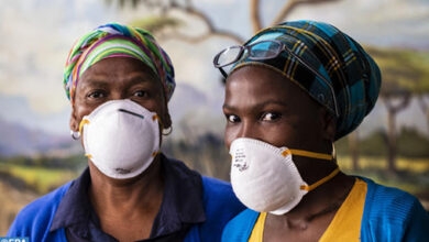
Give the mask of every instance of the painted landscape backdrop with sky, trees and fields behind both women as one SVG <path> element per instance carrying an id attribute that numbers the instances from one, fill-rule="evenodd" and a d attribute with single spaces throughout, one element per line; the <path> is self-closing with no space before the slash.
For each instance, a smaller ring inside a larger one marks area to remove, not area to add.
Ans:
<path id="1" fill-rule="evenodd" d="M 177 81 L 169 102 L 173 133 L 163 152 L 228 180 L 223 80 L 212 57 L 272 23 L 299 19 L 344 30 L 382 69 L 374 110 L 336 142 L 341 169 L 404 189 L 429 210 L 427 1 L 6 0 L 0 2 L 0 237 L 26 204 L 87 167 L 80 143 L 68 134 L 70 107 L 62 86 L 77 36 L 106 22 L 154 33 L 170 54 Z"/>

